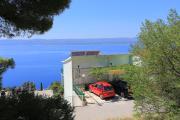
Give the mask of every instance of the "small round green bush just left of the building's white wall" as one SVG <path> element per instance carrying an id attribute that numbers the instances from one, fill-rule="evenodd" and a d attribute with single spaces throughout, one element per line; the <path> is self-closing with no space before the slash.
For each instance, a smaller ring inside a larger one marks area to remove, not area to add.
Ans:
<path id="1" fill-rule="evenodd" d="M 64 88 L 58 81 L 51 83 L 49 89 L 53 90 L 54 95 L 62 95 L 64 93 Z"/>

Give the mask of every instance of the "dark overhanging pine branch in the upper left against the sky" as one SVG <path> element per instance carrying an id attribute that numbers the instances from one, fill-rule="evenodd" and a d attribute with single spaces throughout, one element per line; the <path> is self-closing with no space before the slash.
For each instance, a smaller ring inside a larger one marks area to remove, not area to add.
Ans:
<path id="1" fill-rule="evenodd" d="M 1 0 L 0 37 L 43 34 L 71 0 Z"/>

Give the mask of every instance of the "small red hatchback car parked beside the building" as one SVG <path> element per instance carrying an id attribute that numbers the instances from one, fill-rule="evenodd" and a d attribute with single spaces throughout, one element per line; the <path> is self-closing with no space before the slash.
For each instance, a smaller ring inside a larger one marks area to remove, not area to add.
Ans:
<path id="1" fill-rule="evenodd" d="M 115 92 L 111 84 L 104 81 L 90 84 L 89 91 L 98 95 L 101 99 L 115 96 Z"/>

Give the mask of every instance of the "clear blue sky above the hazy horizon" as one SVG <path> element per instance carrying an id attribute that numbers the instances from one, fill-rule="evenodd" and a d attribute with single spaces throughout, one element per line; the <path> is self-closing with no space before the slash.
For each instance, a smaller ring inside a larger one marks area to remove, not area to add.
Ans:
<path id="1" fill-rule="evenodd" d="M 180 0 L 72 0 L 51 30 L 32 39 L 136 37 L 145 19 L 180 12 Z"/>

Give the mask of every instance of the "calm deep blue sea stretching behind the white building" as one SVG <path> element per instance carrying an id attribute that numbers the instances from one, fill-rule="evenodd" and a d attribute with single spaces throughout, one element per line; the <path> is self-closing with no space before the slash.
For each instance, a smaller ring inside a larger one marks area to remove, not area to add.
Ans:
<path id="1" fill-rule="evenodd" d="M 128 53 L 135 38 L 114 39 L 33 39 L 0 40 L 0 57 L 13 58 L 15 68 L 3 75 L 3 87 L 20 86 L 26 81 L 47 88 L 61 80 L 62 61 L 71 51 L 99 50 L 102 54 Z"/>

